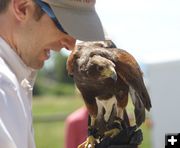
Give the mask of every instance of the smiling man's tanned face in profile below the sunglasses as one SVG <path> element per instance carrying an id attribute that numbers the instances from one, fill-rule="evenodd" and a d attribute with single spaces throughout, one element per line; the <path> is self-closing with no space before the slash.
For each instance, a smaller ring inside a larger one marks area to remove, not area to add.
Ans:
<path id="1" fill-rule="evenodd" d="M 32 15 L 21 24 L 17 40 L 17 51 L 25 64 L 40 69 L 50 57 L 50 50 L 60 51 L 61 48 L 73 49 L 75 39 L 55 26 L 51 18 L 44 15 L 36 20 Z"/>

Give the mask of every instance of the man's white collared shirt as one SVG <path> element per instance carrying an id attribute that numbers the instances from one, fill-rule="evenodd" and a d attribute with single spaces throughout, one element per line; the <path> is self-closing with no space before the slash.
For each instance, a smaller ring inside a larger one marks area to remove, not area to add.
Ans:
<path id="1" fill-rule="evenodd" d="M 32 88 L 36 71 L 0 37 L 0 148 L 35 148 Z"/>

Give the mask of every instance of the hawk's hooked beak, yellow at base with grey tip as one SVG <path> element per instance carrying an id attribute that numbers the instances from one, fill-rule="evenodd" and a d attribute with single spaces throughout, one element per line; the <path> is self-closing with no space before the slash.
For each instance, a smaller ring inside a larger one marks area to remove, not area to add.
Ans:
<path id="1" fill-rule="evenodd" d="M 101 76 L 103 78 L 112 78 L 114 81 L 117 81 L 117 73 L 114 67 L 109 67 L 109 68 L 104 69 L 101 72 Z"/>

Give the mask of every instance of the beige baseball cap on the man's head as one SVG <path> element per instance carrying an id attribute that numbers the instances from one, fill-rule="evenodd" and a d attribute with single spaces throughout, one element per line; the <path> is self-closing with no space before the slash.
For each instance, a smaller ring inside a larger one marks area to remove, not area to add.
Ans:
<path id="1" fill-rule="evenodd" d="M 50 5 L 64 30 L 78 40 L 104 40 L 95 0 L 42 0 Z"/>

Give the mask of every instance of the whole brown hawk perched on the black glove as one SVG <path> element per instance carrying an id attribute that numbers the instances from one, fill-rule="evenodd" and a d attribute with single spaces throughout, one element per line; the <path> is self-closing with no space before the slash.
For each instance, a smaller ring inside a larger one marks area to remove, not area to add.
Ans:
<path id="1" fill-rule="evenodd" d="M 116 118 L 111 123 L 113 128 L 105 131 L 104 135 L 114 137 L 120 132 L 118 127 L 121 121 L 128 119 L 128 94 L 134 104 L 137 126 L 145 121 L 145 109 L 149 111 L 151 108 L 150 97 L 140 67 L 127 51 L 116 48 L 110 40 L 82 42 L 69 56 L 67 69 L 73 76 L 91 117 L 85 147 L 88 148 L 91 144 L 93 148 L 96 142 L 93 134 L 98 114 L 108 123 L 114 104 Z M 104 113 L 99 113 L 99 101 L 103 102 Z"/>

